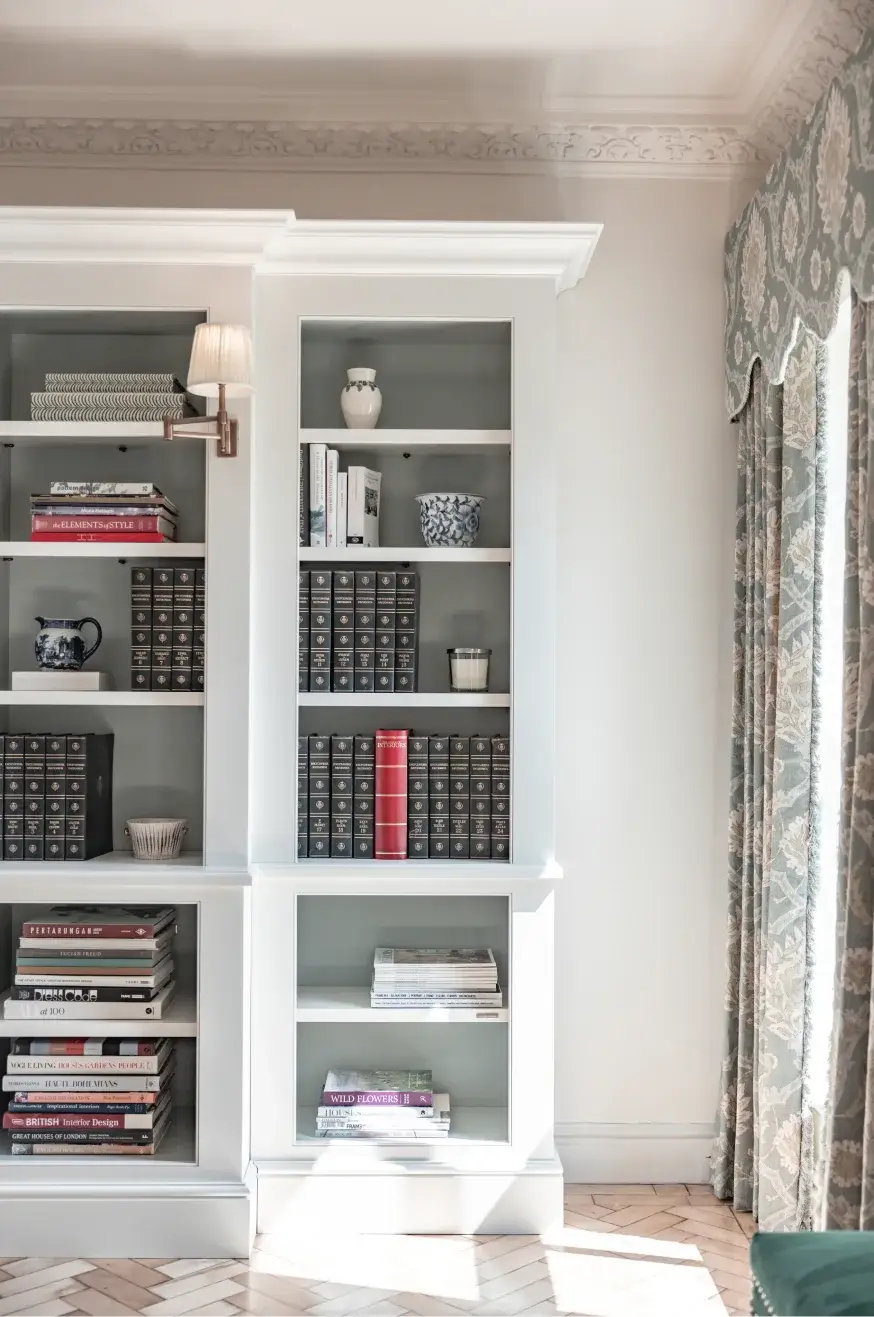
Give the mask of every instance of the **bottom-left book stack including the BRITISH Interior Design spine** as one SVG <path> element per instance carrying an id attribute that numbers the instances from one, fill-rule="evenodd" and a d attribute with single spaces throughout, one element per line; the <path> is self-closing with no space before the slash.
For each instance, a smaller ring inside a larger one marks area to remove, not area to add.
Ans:
<path id="1" fill-rule="evenodd" d="M 12 1152 L 153 1155 L 174 1067 L 167 1038 L 14 1038 L 3 1077 Z"/>

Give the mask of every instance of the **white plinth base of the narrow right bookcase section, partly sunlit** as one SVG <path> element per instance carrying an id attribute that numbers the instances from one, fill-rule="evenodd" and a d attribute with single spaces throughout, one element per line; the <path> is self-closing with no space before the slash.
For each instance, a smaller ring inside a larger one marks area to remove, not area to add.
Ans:
<path id="1" fill-rule="evenodd" d="M 333 1173 L 315 1160 L 258 1163 L 258 1234 L 542 1234 L 563 1221 L 558 1158 L 511 1172 L 386 1163 Z"/>

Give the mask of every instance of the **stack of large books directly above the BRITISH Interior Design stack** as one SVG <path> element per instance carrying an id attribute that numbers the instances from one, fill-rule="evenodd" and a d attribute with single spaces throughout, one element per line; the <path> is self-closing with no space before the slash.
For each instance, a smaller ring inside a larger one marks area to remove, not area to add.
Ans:
<path id="1" fill-rule="evenodd" d="M 58 906 L 21 925 L 5 1019 L 163 1019 L 176 911 Z"/>

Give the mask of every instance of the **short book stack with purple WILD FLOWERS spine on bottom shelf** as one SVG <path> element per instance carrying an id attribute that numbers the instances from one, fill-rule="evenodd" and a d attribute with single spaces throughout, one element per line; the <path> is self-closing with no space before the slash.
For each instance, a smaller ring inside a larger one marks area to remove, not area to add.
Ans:
<path id="1" fill-rule="evenodd" d="M 430 1071 L 328 1071 L 316 1134 L 329 1139 L 449 1138 L 449 1094 Z"/>

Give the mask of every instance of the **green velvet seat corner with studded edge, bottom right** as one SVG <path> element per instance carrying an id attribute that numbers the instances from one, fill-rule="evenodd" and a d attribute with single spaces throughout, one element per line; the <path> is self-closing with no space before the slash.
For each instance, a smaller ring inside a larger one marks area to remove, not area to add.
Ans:
<path id="1" fill-rule="evenodd" d="M 874 1234 L 757 1234 L 750 1241 L 753 1313 L 874 1317 Z"/>

